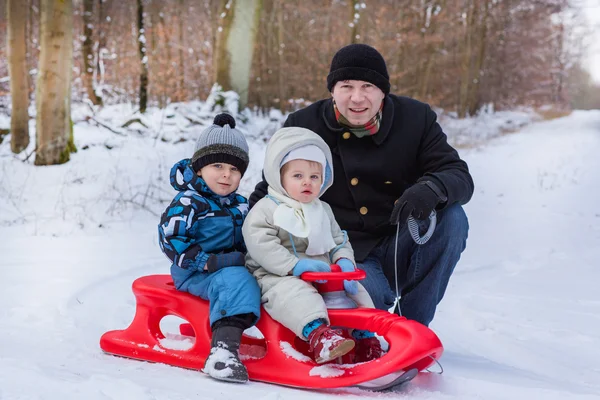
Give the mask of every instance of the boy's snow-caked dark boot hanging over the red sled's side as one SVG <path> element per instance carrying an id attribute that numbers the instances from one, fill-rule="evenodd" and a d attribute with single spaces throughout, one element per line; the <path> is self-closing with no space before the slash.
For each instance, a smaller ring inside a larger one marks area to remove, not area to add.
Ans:
<path id="1" fill-rule="evenodd" d="M 206 374 L 221 381 L 248 382 L 248 370 L 239 355 L 243 331 L 240 327 L 229 325 L 213 330 L 210 355 L 204 363 Z"/>

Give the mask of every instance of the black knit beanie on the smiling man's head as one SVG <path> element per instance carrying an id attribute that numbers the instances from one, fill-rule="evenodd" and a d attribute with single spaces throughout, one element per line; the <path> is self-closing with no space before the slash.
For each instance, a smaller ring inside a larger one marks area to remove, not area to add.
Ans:
<path id="1" fill-rule="evenodd" d="M 383 93 L 390 92 L 385 60 L 377 50 L 366 44 L 350 44 L 333 56 L 327 75 L 327 89 L 331 92 L 336 82 L 347 80 L 370 82 Z"/>

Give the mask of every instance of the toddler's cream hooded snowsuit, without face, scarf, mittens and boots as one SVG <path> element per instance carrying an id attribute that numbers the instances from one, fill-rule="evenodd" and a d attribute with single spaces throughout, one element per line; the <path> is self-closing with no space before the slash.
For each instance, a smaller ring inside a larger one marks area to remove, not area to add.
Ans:
<path id="1" fill-rule="evenodd" d="M 305 145 L 318 146 L 327 158 L 324 171 L 323 192 L 332 184 L 333 169 L 329 146 L 316 133 L 305 128 L 283 128 L 267 146 L 264 174 L 269 188 L 287 196 L 281 185 L 280 164 L 291 150 Z M 316 200 L 319 201 L 319 200 Z M 328 204 L 322 203 L 331 223 L 331 234 L 336 247 L 326 254 L 309 256 L 307 238 L 292 236 L 273 223 L 273 213 L 278 203 L 272 197 L 264 197 L 248 213 L 242 233 L 248 249 L 246 266 L 256 277 L 262 293 L 262 303 L 273 319 L 303 338 L 302 329 L 309 322 L 322 318 L 329 323 L 327 308 L 315 287 L 299 277 L 291 275 L 296 263 L 302 258 L 334 263 L 340 258 L 354 262 L 352 246 L 347 235 L 335 221 Z M 292 244 L 293 241 L 293 244 Z M 359 306 L 373 308 L 373 302 L 365 290 L 358 285 L 358 293 L 349 295 Z"/>

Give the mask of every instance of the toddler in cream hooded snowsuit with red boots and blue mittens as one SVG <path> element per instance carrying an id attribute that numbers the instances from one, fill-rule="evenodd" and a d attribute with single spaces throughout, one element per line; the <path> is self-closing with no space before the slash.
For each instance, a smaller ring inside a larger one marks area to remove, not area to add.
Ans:
<path id="1" fill-rule="evenodd" d="M 381 356 L 379 341 L 371 332 L 355 330 L 344 335 L 329 326 L 323 297 L 303 272 L 355 269 L 354 252 L 328 204 L 319 197 L 333 181 L 331 151 L 311 130 L 283 128 L 267 145 L 264 174 L 268 196 L 250 210 L 242 228 L 265 310 L 298 337 L 310 343 L 314 360 L 325 363 L 350 352 L 355 362 Z M 356 281 L 344 287 L 359 306 L 373 307 L 367 291 Z"/>

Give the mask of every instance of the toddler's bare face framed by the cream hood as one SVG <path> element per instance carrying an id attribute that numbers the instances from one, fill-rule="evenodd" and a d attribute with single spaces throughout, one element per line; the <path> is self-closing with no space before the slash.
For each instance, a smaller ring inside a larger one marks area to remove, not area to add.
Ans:
<path id="1" fill-rule="evenodd" d="M 323 183 L 321 164 L 292 160 L 281 168 L 281 184 L 288 195 L 300 203 L 310 203 L 319 196 Z"/>

